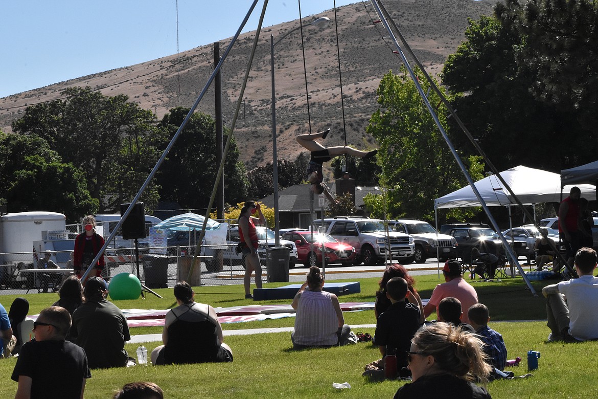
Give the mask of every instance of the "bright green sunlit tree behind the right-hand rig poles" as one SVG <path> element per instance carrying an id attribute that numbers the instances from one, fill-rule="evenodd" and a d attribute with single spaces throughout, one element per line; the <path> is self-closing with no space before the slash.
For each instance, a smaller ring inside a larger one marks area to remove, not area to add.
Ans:
<path id="1" fill-rule="evenodd" d="M 424 92 L 428 85 L 416 71 Z M 401 74 L 386 74 L 378 87 L 380 108 L 371 117 L 367 132 L 380 149 L 378 164 L 388 199 L 388 217 L 432 218 L 433 200 L 466 183 L 449 147 L 423 104 L 416 86 L 402 67 Z M 450 97 L 449 97 L 450 98 Z M 429 102 L 446 129 L 446 108 L 435 92 Z M 472 178 L 481 178 L 479 157 L 459 151 Z"/>

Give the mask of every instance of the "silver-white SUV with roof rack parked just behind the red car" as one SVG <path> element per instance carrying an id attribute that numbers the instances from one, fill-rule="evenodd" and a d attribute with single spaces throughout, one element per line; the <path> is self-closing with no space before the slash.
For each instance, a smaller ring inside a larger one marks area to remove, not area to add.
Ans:
<path id="1" fill-rule="evenodd" d="M 318 229 L 322 226 L 322 220 L 314 220 L 312 224 Z M 382 264 L 387 254 L 390 259 L 397 259 L 401 263 L 413 261 L 413 237 L 389 230 L 387 240 L 382 220 L 338 216 L 324 219 L 324 227 L 327 234 L 355 247 L 355 264 Z"/>

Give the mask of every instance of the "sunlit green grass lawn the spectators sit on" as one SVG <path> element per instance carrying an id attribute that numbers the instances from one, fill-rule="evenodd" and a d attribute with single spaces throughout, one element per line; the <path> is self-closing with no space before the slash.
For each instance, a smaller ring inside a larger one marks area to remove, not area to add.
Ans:
<path id="1" fill-rule="evenodd" d="M 341 302 L 374 301 L 378 279 L 359 279 L 361 293 L 341 296 Z M 355 281 L 355 280 L 353 280 Z M 422 298 L 429 298 L 437 276 L 417 276 L 417 288 Z M 546 284 L 555 281 L 534 282 L 540 293 Z M 286 283 L 275 283 L 276 287 Z M 520 356 L 521 366 L 511 368 L 515 374 L 527 372 L 527 351 L 541 352 L 539 369 L 527 380 L 489 383 L 487 388 L 493 398 L 588 398 L 598 397 L 594 374 L 598 371 L 596 357 L 598 342 L 579 344 L 546 343 L 548 328 L 543 321 L 501 322 L 504 320 L 545 319 L 544 298 L 533 297 L 521 278 L 504 279 L 502 282 L 473 283 L 480 301 L 490 309 L 490 327 L 503 334 L 509 358 Z M 167 309 L 172 304 L 172 290 L 156 290 L 164 299 L 147 296 L 146 299 L 114 301 L 121 309 Z M 0 296 L 5 307 L 16 296 Z M 57 294 L 30 294 L 30 314 L 53 303 Z M 196 300 L 214 307 L 237 306 L 250 303 L 243 299 L 242 285 L 196 288 Z M 260 301 L 259 303 L 289 303 L 289 300 Z M 256 302 L 257 303 L 257 302 Z M 372 310 L 344 314 L 348 324 L 374 324 Z M 429 319 L 433 319 L 432 315 Z M 237 328 L 292 327 L 294 318 L 268 321 L 224 324 L 225 330 Z M 161 327 L 132 328 L 132 334 L 159 333 Z M 373 334 L 374 331 L 364 331 Z M 342 348 L 291 350 L 288 333 L 230 336 L 226 342 L 233 348 L 234 362 L 228 364 L 192 364 L 185 366 L 136 366 L 109 370 L 92 370 L 86 398 L 109 398 L 113 390 L 124 383 L 151 380 L 166 392 L 167 398 L 311 398 L 343 397 L 392 398 L 402 382 L 385 381 L 370 383 L 361 376 L 363 367 L 379 358 L 379 352 L 370 343 Z M 148 351 L 158 343 L 147 344 Z M 136 345 L 127 345 L 135 354 Z M 0 397 L 13 397 L 16 382 L 10 380 L 16 360 L 0 361 L 4 383 Z M 579 370 L 583 370 L 579 372 Z M 337 390 L 333 382 L 349 382 L 352 388 Z M 48 396 L 50 397 L 50 396 Z"/>

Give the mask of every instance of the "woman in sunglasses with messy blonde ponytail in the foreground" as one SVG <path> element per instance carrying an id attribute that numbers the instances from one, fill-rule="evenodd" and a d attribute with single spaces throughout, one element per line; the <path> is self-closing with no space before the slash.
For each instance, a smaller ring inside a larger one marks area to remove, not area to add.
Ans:
<path id="1" fill-rule="evenodd" d="M 420 328 L 407 352 L 411 383 L 401 386 L 395 399 L 491 398 L 473 382 L 487 382 L 492 370 L 483 345 L 474 334 L 449 323 L 439 321 Z"/>

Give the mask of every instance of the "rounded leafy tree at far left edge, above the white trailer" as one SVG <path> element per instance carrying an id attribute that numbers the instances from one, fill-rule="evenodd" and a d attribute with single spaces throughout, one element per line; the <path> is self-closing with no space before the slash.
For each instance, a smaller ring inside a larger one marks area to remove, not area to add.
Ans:
<path id="1" fill-rule="evenodd" d="M 97 211 L 83 173 L 36 135 L 0 132 L 0 193 L 10 212 L 51 211 L 68 221 Z"/>

